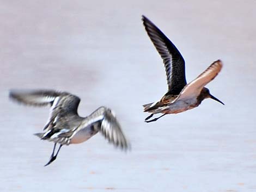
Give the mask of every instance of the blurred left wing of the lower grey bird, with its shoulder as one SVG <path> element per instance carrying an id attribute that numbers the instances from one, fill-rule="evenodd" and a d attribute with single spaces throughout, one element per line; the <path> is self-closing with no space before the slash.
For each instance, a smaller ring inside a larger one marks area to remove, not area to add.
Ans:
<path id="1" fill-rule="evenodd" d="M 65 119 L 65 116 L 76 115 L 80 103 L 80 98 L 75 95 L 53 90 L 11 90 L 9 97 L 32 106 L 51 106 L 50 118 L 44 129 L 64 122 L 60 119 Z"/>

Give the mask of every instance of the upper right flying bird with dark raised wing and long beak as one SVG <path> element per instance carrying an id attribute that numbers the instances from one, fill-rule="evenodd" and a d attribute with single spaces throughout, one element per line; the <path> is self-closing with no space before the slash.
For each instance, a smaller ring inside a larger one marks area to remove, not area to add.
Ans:
<path id="1" fill-rule="evenodd" d="M 151 113 L 145 122 L 153 122 L 166 114 L 185 112 L 188 109 L 198 107 L 205 98 L 224 103 L 212 96 L 208 88 L 204 86 L 211 82 L 221 71 L 223 63 L 220 59 L 214 61 L 203 73 L 192 82 L 186 82 L 185 60 L 179 50 L 163 32 L 156 27 L 147 17 L 142 15 L 145 30 L 153 42 L 157 52 L 161 55 L 166 69 L 168 91 L 160 101 L 144 104 L 144 112 Z M 154 114 L 162 113 L 161 116 L 151 119 Z M 151 119 L 151 120 L 149 120 Z"/>

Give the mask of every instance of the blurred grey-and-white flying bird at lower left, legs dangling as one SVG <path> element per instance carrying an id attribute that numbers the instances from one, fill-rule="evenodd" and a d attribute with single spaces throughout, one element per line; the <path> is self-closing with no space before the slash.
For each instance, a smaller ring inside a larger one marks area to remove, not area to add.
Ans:
<path id="1" fill-rule="evenodd" d="M 50 106 L 50 116 L 42 133 L 35 133 L 42 140 L 54 143 L 51 164 L 63 145 L 80 144 L 101 132 L 116 147 L 130 148 L 114 112 L 107 107 L 99 107 L 87 117 L 77 114 L 80 98 L 69 92 L 55 90 L 10 90 L 11 100 L 30 106 Z M 57 153 L 54 154 L 56 145 Z"/>

